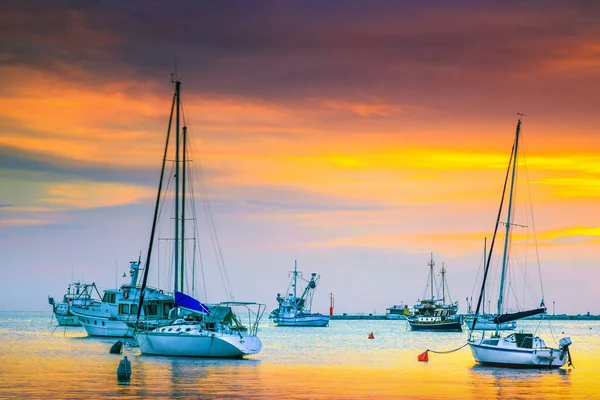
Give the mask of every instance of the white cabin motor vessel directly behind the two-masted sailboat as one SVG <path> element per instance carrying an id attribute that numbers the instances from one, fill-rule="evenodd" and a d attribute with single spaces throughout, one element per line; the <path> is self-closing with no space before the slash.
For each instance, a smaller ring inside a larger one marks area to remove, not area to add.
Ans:
<path id="1" fill-rule="evenodd" d="M 140 259 L 130 261 L 129 284 L 104 290 L 101 301 L 71 306 L 71 312 L 89 336 L 133 337 L 133 328 L 127 323 L 134 321 L 138 313 L 138 300 L 142 291 L 138 285 L 140 268 Z M 144 288 L 144 292 L 145 300 L 141 313 L 148 325 L 158 326 L 161 321 L 168 319 L 173 308 L 173 296 L 152 287 Z"/>

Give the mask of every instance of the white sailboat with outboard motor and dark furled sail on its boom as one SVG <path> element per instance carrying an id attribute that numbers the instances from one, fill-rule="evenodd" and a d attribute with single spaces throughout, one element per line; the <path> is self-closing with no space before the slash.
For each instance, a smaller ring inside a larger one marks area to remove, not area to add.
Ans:
<path id="1" fill-rule="evenodd" d="M 498 210 L 498 217 L 496 219 L 496 226 L 494 228 L 494 236 L 492 237 L 492 244 L 487 258 L 486 267 L 483 275 L 483 282 L 479 299 L 477 302 L 477 308 L 475 310 L 475 318 L 473 319 L 472 325 L 475 325 L 478 320 L 479 310 L 481 308 L 482 297 L 485 292 L 486 280 L 488 277 L 490 260 L 494 249 L 494 243 L 496 239 L 496 233 L 498 231 L 498 225 L 500 224 L 500 216 L 504 205 L 504 198 L 507 189 L 508 177 L 510 175 L 510 187 L 508 194 L 508 210 L 506 214 L 506 226 L 504 236 L 504 251 L 502 256 L 502 270 L 500 278 L 500 288 L 498 292 L 498 314 L 493 318 L 494 324 L 502 324 L 509 321 L 516 321 L 522 318 L 543 314 L 546 312 L 544 301 L 542 299 L 540 306 L 526 311 L 518 312 L 505 312 L 504 310 L 504 296 L 506 291 L 505 281 L 507 276 L 507 266 L 509 262 L 509 251 L 512 246 L 509 246 L 511 237 L 511 229 L 513 225 L 513 197 L 515 191 L 515 177 L 517 170 L 517 161 L 519 155 L 519 134 L 521 131 L 521 118 L 517 122 L 515 141 L 511 152 L 510 160 L 508 163 L 508 169 L 504 180 L 504 189 L 502 191 L 502 198 L 500 201 L 500 208 Z M 535 336 L 533 333 L 512 333 L 508 336 L 501 336 L 499 329 L 496 329 L 490 337 L 485 337 L 485 332 L 482 333 L 481 337 L 473 337 L 471 332 L 468 344 L 473 353 L 475 361 L 483 365 L 493 365 L 500 367 L 510 368 L 559 368 L 565 365 L 567 360 L 570 362 L 569 346 L 571 345 L 571 339 L 569 337 L 563 337 L 558 342 L 558 347 L 552 348 L 546 345 L 546 342 Z"/>

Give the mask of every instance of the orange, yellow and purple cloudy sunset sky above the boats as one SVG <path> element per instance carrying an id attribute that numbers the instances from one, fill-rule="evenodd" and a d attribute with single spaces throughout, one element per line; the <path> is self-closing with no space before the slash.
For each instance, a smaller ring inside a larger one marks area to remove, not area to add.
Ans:
<path id="1" fill-rule="evenodd" d="M 593 1 L 1 1 L 0 309 L 145 256 L 176 72 L 237 300 L 272 309 L 298 260 L 314 311 L 383 313 L 423 298 L 433 252 L 465 311 L 524 113 L 545 303 L 599 314 L 598 21 Z"/>

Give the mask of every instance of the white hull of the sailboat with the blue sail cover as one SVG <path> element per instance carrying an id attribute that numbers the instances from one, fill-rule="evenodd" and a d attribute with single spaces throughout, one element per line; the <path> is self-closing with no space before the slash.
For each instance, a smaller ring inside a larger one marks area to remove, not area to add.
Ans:
<path id="1" fill-rule="evenodd" d="M 158 356 L 239 358 L 257 354 L 262 348 L 262 342 L 256 336 L 208 331 L 192 334 L 137 332 L 135 338 L 142 354 Z"/>

